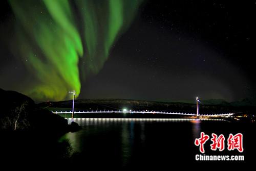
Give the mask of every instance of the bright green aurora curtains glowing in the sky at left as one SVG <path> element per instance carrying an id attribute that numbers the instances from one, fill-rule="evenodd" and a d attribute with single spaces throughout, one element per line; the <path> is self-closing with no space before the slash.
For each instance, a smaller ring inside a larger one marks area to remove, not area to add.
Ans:
<path id="1" fill-rule="evenodd" d="M 141 4 L 138 0 L 9 1 L 15 15 L 16 56 L 34 79 L 23 93 L 36 101 L 68 99 L 97 74 Z"/>

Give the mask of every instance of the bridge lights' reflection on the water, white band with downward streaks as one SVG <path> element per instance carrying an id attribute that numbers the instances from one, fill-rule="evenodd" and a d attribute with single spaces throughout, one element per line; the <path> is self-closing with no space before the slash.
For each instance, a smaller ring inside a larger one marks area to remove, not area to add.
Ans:
<path id="1" fill-rule="evenodd" d="M 121 124 L 121 145 L 123 149 L 123 157 L 129 157 L 130 149 L 134 145 L 134 126 L 135 123 L 140 125 L 140 141 L 143 143 L 145 141 L 145 123 L 179 123 L 186 122 L 191 123 L 191 131 L 193 138 L 197 138 L 200 136 L 201 132 L 201 122 L 202 120 L 219 120 L 222 119 L 183 119 L 183 118 L 67 118 L 68 123 L 71 124 L 72 121 L 75 121 L 82 128 L 87 126 L 105 126 L 109 127 L 111 125 L 120 125 Z M 66 134 L 66 138 L 69 139 L 73 149 L 75 151 L 81 151 L 81 143 L 77 141 L 79 137 L 83 134 L 83 130 Z"/>

